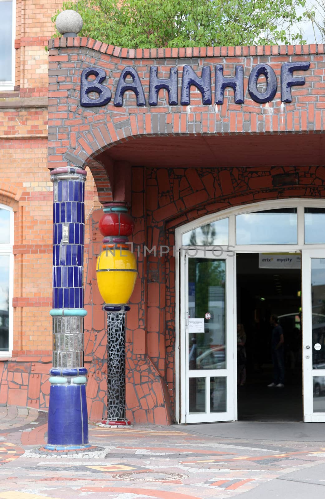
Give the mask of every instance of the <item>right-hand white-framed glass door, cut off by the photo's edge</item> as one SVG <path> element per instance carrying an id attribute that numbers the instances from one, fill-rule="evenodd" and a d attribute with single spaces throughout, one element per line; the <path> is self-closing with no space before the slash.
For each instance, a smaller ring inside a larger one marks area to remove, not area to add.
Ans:
<path id="1" fill-rule="evenodd" d="M 325 422 L 325 250 L 303 250 L 304 421 Z"/>

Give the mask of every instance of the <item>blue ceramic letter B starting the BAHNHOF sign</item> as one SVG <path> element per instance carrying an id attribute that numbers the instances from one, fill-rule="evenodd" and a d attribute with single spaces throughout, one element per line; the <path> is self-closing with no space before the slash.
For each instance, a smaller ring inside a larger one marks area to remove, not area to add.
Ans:
<path id="1" fill-rule="evenodd" d="M 94 80 L 88 81 L 90 75 L 96 76 Z M 111 100 L 112 93 L 108 87 L 101 85 L 101 82 L 106 78 L 104 69 L 96 67 L 87 67 L 81 73 L 80 80 L 80 106 L 82 107 L 95 107 L 104 106 Z M 97 99 L 90 99 L 89 92 L 97 92 L 99 94 Z"/>

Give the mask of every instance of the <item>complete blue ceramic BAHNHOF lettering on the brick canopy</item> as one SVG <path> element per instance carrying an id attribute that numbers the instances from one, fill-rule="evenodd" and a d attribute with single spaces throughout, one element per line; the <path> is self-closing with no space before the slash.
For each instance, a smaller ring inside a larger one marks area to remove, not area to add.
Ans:
<path id="1" fill-rule="evenodd" d="M 282 102 L 292 102 L 291 87 L 295 85 L 304 85 L 304 76 L 294 76 L 295 71 L 307 71 L 310 62 L 285 62 L 281 66 L 281 100 Z M 95 79 L 88 80 L 89 76 L 95 76 Z M 266 78 L 266 89 L 264 92 L 258 90 L 259 76 L 264 75 Z M 125 81 L 127 76 L 131 77 L 132 81 Z M 102 68 L 88 67 L 81 73 L 80 82 L 80 105 L 83 107 L 104 106 L 108 104 L 112 98 L 110 88 L 103 84 L 106 78 L 106 71 Z M 158 92 L 164 88 L 168 92 L 168 102 L 170 106 L 178 105 L 178 90 L 177 90 L 178 68 L 171 67 L 169 78 L 158 78 L 158 67 L 150 66 L 149 79 L 149 106 L 156 106 L 158 102 Z M 204 105 L 212 104 L 211 92 L 211 68 L 204 66 L 201 76 L 192 69 L 191 66 L 183 66 L 182 88 L 180 103 L 183 106 L 190 104 L 190 88 L 194 85 L 202 94 L 202 102 Z M 235 103 L 244 103 L 244 67 L 241 65 L 235 66 L 235 76 L 224 76 L 223 65 L 215 66 L 215 104 L 222 104 L 224 100 L 224 92 L 227 87 L 234 90 Z M 274 69 L 269 64 L 257 64 L 253 67 L 248 81 L 248 92 L 251 98 L 260 104 L 270 102 L 274 99 L 278 88 L 277 76 Z M 138 106 L 146 105 L 141 80 L 136 69 L 132 66 L 126 66 L 120 74 L 114 96 L 114 106 L 121 107 L 123 105 L 123 95 L 127 90 L 132 90 L 135 93 Z M 98 98 L 93 99 L 88 94 L 96 92 Z"/>

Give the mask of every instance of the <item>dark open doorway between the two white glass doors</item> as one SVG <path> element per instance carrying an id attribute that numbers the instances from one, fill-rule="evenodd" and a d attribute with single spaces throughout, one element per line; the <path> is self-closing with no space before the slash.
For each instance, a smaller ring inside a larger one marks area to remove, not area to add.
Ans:
<path id="1" fill-rule="evenodd" d="M 301 256 L 238 253 L 236 259 L 238 419 L 302 421 Z M 279 316 L 285 341 L 281 388 L 268 387 L 274 381 L 272 314 Z"/>

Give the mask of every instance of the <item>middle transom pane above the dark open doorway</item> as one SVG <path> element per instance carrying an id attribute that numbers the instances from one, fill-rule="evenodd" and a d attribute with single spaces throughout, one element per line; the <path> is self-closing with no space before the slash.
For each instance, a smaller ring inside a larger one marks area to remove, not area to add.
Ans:
<path id="1" fill-rule="evenodd" d="M 266 210 L 236 216 L 236 244 L 297 244 L 297 208 Z"/>

